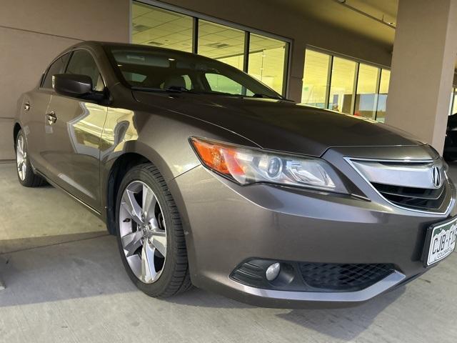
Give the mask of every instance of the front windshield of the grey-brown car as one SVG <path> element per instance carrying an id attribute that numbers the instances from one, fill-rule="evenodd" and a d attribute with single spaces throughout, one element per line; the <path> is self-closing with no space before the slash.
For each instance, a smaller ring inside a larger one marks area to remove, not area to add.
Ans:
<path id="1" fill-rule="evenodd" d="M 248 74 L 214 59 L 141 46 L 111 46 L 109 53 L 132 89 L 282 99 Z"/>

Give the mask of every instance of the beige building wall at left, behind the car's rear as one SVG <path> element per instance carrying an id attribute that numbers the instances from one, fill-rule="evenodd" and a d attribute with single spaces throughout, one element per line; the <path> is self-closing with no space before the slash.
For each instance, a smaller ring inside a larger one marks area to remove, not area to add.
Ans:
<path id="1" fill-rule="evenodd" d="M 13 159 L 16 101 L 51 59 L 81 40 L 129 41 L 129 0 L 1 1 L 0 160 Z"/>

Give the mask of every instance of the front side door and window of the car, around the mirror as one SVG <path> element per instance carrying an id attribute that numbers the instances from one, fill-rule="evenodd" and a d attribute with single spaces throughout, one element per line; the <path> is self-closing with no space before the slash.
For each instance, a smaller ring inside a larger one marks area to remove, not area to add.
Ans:
<path id="1" fill-rule="evenodd" d="M 104 90 L 104 81 L 94 57 L 86 50 L 71 55 L 66 74 L 92 79 L 93 89 Z M 48 177 L 67 192 L 100 211 L 100 141 L 107 107 L 94 101 L 53 94 L 46 120 L 44 159 Z"/>

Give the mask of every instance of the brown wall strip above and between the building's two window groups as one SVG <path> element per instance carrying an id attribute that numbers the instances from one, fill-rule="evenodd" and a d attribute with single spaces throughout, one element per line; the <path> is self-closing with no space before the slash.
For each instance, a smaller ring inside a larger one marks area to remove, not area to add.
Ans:
<path id="1" fill-rule="evenodd" d="M 351 32 L 301 16 L 262 0 L 164 0 L 167 4 L 232 21 L 262 31 L 293 39 L 288 97 L 300 101 L 304 53 L 307 45 L 346 54 L 383 66 L 391 65 L 392 46 L 357 36 Z"/>

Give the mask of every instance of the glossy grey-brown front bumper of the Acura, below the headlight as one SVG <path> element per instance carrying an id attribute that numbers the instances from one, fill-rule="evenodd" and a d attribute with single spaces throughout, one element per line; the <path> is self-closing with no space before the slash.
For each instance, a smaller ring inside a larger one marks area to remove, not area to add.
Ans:
<path id="1" fill-rule="evenodd" d="M 192 282 L 263 307 L 347 307 L 426 272 L 429 225 L 455 214 L 412 212 L 360 197 L 256 184 L 241 187 L 203 166 L 169 184 L 186 234 Z M 453 199 L 455 189 L 452 187 Z M 251 287 L 233 270 L 248 259 L 393 264 L 395 272 L 354 292 Z"/>

